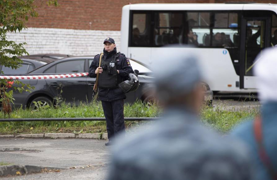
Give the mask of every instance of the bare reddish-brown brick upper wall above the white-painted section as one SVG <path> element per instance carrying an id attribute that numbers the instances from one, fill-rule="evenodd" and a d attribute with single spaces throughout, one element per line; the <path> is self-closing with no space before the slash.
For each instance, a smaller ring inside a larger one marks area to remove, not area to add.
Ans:
<path id="1" fill-rule="evenodd" d="M 30 18 L 28 27 L 86 30 L 120 30 L 121 11 L 129 3 L 201 3 L 210 0 L 58 0 L 48 7 L 39 0 L 39 17 Z"/>

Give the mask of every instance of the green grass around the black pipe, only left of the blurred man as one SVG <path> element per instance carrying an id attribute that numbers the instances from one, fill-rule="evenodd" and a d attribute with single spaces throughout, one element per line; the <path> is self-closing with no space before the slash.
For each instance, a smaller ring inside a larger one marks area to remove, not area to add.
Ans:
<path id="1" fill-rule="evenodd" d="M 125 117 L 158 117 L 158 106 L 148 108 L 141 102 L 132 106 L 124 106 Z M 62 103 L 59 107 L 42 107 L 38 110 L 18 109 L 11 113 L 11 118 L 82 118 L 104 117 L 100 102 L 81 103 L 79 106 L 69 106 Z M 0 118 L 7 115 L 0 113 Z M 125 121 L 127 128 L 137 126 L 142 122 Z M 36 122 L 1 122 L 0 134 L 16 133 L 104 133 L 105 121 L 36 121 Z"/>

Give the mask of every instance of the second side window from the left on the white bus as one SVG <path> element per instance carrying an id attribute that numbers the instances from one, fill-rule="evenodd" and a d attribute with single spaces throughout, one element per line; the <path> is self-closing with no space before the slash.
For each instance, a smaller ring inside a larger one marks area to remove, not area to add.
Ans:
<path id="1" fill-rule="evenodd" d="M 183 13 L 155 13 L 154 44 L 181 44 Z"/>

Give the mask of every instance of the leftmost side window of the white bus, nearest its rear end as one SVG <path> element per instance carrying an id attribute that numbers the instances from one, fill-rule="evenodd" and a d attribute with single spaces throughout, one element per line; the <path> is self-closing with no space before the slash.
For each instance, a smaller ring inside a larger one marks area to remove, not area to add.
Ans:
<path id="1" fill-rule="evenodd" d="M 150 37 L 150 15 L 149 14 L 133 14 L 133 25 L 131 35 L 132 46 L 149 45 Z"/>

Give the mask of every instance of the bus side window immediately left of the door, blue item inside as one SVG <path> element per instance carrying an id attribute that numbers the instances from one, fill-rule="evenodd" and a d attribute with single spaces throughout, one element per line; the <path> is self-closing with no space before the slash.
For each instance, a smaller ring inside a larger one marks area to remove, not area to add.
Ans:
<path id="1" fill-rule="evenodd" d="M 212 46 L 234 47 L 239 45 L 238 14 L 215 13 L 212 29 Z"/>

